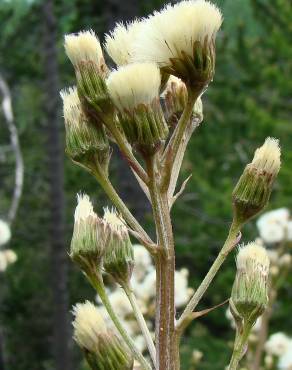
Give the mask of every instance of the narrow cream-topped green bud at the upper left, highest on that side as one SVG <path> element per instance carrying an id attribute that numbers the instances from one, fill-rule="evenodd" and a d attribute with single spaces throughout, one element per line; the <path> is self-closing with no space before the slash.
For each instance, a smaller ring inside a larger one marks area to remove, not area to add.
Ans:
<path id="1" fill-rule="evenodd" d="M 110 110 L 108 68 L 97 36 L 92 30 L 66 35 L 65 51 L 75 68 L 82 104 L 97 115 L 105 114 Z"/>

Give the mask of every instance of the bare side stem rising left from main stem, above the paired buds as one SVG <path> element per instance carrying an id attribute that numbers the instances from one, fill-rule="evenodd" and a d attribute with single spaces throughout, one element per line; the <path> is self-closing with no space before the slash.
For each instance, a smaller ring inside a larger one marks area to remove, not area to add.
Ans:
<path id="1" fill-rule="evenodd" d="M 154 255 L 156 253 L 154 242 L 150 239 L 149 235 L 139 224 L 136 218 L 132 215 L 123 200 L 119 197 L 109 178 L 101 171 L 102 170 L 98 168 L 98 170 L 94 172 L 95 178 L 97 179 L 107 196 L 110 198 L 110 200 L 113 202 L 113 204 L 121 212 L 128 225 L 137 233 L 137 238 L 139 238 L 139 241 L 145 246 L 145 248 L 147 248 L 150 254 Z"/>

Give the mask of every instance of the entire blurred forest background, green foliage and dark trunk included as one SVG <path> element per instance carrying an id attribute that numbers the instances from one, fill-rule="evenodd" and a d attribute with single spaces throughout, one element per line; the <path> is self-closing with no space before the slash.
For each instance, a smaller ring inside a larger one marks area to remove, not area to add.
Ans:
<path id="1" fill-rule="evenodd" d="M 76 193 L 86 191 L 96 209 L 107 199 L 94 179 L 64 157 L 59 90 L 74 83 L 63 35 L 93 28 L 100 38 L 115 22 L 143 16 L 160 0 L 0 0 L 0 75 L 11 90 L 24 161 L 24 188 L 12 224 L 18 260 L 0 275 L 0 370 L 80 370 L 71 341 L 70 309 L 94 292 L 67 251 Z M 292 6 L 290 0 L 218 0 L 224 24 L 217 41 L 215 82 L 203 96 L 204 122 L 183 166 L 193 174 L 173 210 L 177 266 L 195 287 L 225 238 L 236 179 L 266 136 L 280 139 L 283 166 L 269 208 L 292 208 Z M 2 100 L 2 97 L 1 97 Z M 0 217 L 7 218 L 14 187 L 14 153 L 0 110 Z M 146 199 L 127 167 L 114 156 L 113 178 L 134 214 L 149 224 Z M 257 236 L 255 223 L 243 241 Z M 229 297 L 229 258 L 201 308 Z M 280 291 L 272 330 L 292 335 L 292 278 Z M 199 369 L 222 370 L 233 331 L 219 308 L 195 322 L 183 343 L 183 370 L 194 348 Z M 290 331 L 290 332 L 289 332 Z"/>

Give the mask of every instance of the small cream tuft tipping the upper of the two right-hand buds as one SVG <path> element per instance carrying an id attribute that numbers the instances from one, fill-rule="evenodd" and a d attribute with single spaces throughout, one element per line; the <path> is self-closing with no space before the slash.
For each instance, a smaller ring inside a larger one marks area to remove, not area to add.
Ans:
<path id="1" fill-rule="evenodd" d="M 264 144 L 255 151 L 252 165 L 260 171 L 276 176 L 281 167 L 279 140 L 268 137 Z"/>

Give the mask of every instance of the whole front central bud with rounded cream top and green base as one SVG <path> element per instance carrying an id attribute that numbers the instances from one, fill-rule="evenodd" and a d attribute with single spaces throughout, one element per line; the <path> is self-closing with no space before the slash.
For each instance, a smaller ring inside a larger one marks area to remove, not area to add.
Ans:
<path id="1" fill-rule="evenodd" d="M 154 63 L 133 63 L 112 72 L 109 94 L 118 109 L 118 121 L 130 144 L 152 154 L 168 135 L 159 101 L 161 77 Z"/>

